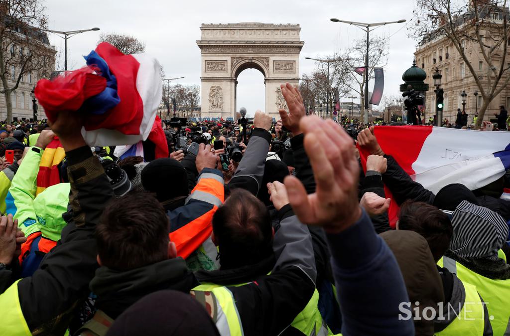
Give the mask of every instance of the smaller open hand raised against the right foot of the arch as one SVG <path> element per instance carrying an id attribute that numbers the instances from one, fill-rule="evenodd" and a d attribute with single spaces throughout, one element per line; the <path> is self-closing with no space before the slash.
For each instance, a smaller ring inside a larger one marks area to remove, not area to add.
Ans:
<path id="1" fill-rule="evenodd" d="M 301 118 L 307 115 L 307 112 L 304 109 L 303 98 L 301 97 L 301 93 L 297 89 L 286 83 L 285 85 L 281 85 L 282 94 L 287 102 L 287 106 L 289 107 L 289 114 L 285 110 L 278 110 L 280 117 L 282 118 L 282 124 L 295 136 L 301 134 L 301 130 L 299 127 L 299 122 Z"/>

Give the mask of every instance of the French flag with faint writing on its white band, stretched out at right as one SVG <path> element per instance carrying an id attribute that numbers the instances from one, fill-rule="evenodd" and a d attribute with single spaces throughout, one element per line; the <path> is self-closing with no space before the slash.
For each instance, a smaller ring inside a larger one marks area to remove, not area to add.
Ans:
<path id="1" fill-rule="evenodd" d="M 434 194 L 451 183 L 475 190 L 496 181 L 510 169 L 510 132 L 376 126 L 374 135 L 382 151 L 393 156 L 414 181 Z M 364 169 L 368 155 L 360 150 Z M 387 197 L 391 197 L 386 191 Z M 389 210 L 392 227 L 397 214 L 398 206 L 392 202 Z"/>

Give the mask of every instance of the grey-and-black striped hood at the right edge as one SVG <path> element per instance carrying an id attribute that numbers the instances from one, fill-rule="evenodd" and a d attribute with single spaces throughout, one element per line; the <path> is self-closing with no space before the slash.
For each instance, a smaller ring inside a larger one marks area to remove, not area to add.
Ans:
<path id="1" fill-rule="evenodd" d="M 451 224 L 449 250 L 464 258 L 498 260 L 498 250 L 508 236 L 508 225 L 499 214 L 463 201 L 453 211 Z"/>

